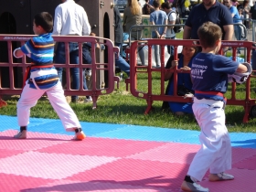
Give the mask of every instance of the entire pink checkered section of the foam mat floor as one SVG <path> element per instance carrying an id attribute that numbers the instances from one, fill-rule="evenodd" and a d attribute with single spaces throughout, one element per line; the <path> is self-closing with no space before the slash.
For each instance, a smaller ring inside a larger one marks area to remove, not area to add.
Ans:
<path id="1" fill-rule="evenodd" d="M 197 144 L 131 141 L 30 133 L 0 133 L 0 191 L 180 191 Z M 201 182 L 210 191 L 256 191 L 256 149 L 233 148 L 235 180 Z"/>

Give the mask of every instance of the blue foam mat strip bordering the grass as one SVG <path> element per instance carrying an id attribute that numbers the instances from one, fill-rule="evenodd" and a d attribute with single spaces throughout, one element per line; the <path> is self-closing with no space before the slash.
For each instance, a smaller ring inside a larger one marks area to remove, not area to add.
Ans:
<path id="1" fill-rule="evenodd" d="M 17 119 L 14 116 L 0 115 L 0 122 L 0 132 L 19 129 Z M 86 135 L 94 137 L 200 144 L 198 138 L 199 131 L 112 123 L 81 122 L 81 126 Z M 30 118 L 29 131 L 74 134 L 66 132 L 60 120 L 43 118 Z M 233 147 L 256 148 L 256 133 L 229 133 L 229 135 Z"/>

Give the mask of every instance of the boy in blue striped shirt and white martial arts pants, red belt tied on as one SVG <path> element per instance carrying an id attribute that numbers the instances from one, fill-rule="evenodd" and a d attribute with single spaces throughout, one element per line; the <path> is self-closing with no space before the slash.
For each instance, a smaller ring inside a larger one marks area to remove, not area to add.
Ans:
<path id="1" fill-rule="evenodd" d="M 59 81 L 57 70 L 53 65 L 54 40 L 51 37 L 53 19 L 47 12 L 42 12 L 34 17 L 33 37 L 21 48 L 14 50 L 16 58 L 27 55 L 31 58 L 29 76 L 17 102 L 17 119 L 20 131 L 14 137 L 27 138 L 27 124 L 29 123 L 30 108 L 37 104 L 37 100 L 46 92 L 54 110 L 66 131 L 75 132 L 75 140 L 82 140 L 82 132 L 77 115 L 66 101 L 64 91 Z"/>

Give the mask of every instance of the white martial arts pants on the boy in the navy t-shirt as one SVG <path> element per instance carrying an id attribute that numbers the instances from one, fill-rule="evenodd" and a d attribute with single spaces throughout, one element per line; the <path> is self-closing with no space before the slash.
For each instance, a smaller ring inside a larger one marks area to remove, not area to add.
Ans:
<path id="1" fill-rule="evenodd" d="M 231 168 L 231 144 L 222 107 L 222 101 L 197 98 L 192 106 L 201 128 L 201 148 L 189 166 L 187 175 L 198 181 L 203 179 L 208 168 L 211 174 L 219 174 Z"/>

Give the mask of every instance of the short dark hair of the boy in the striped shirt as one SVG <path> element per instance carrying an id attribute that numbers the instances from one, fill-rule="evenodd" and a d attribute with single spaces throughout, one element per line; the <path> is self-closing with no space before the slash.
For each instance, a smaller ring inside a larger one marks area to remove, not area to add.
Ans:
<path id="1" fill-rule="evenodd" d="M 52 30 L 53 19 L 48 12 L 41 12 L 34 17 L 36 26 L 42 27 L 47 33 Z"/>

